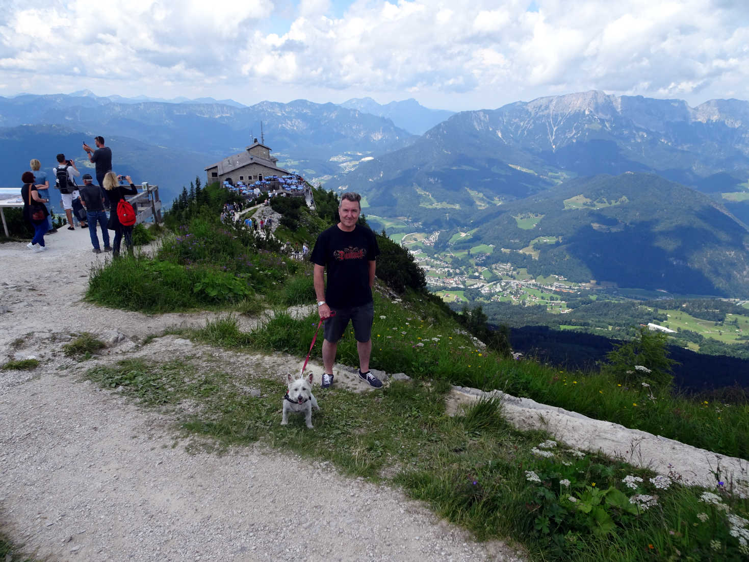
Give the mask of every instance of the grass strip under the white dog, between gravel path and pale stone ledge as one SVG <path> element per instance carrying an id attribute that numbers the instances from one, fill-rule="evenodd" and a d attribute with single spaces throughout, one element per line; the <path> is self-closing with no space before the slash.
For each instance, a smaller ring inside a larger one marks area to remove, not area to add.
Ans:
<path id="1" fill-rule="evenodd" d="M 282 324 L 288 318 L 274 327 Z M 172 408 L 184 432 L 212 438 L 216 447 L 261 441 L 333 462 L 345 474 L 400 486 L 479 540 L 515 537 L 539 560 L 644 560 L 665 558 L 676 548 L 699 560 L 710 552 L 710 540 L 721 540 L 716 553 L 721 560 L 739 559 L 736 540 L 724 524 L 726 514 L 701 503 L 700 490 L 678 482 L 658 490 L 657 509 L 633 513 L 604 503 L 586 512 L 592 495 L 600 493 L 629 505 L 635 492 L 622 484 L 628 475 L 643 479 L 637 492 L 653 494 L 648 478 L 654 475 L 550 444 L 542 432 L 519 432 L 493 399 L 479 400 L 451 417 L 445 380 L 392 382 L 369 393 L 316 390 L 322 411 L 313 414 L 315 429 L 310 431 L 302 416 L 280 425 L 279 396 L 285 385 L 256 373 L 204 372 L 185 358 L 124 360 L 89 369 L 86 376 L 144 406 Z M 247 387 L 261 396 L 249 396 Z M 186 401 L 189 413 L 179 408 Z M 539 450 L 549 451 L 551 458 Z M 568 484 L 562 483 L 565 479 Z M 578 498 L 577 504 L 569 496 Z M 721 499 L 733 513 L 746 514 L 746 500 Z M 709 525 L 697 518 L 703 511 L 712 518 Z"/>

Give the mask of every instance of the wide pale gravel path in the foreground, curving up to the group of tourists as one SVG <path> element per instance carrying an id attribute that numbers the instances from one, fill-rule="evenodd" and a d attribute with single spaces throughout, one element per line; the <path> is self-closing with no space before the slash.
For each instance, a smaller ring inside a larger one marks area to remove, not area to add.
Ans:
<path id="1" fill-rule="evenodd" d="M 519 560 L 325 463 L 259 446 L 188 453 L 173 420 L 80 382 L 60 351 L 71 332 L 142 339 L 209 315 L 82 303 L 91 263 L 105 255 L 80 229 L 47 242 L 40 254 L 0 245 L 0 361 L 43 362 L 0 372 L 0 524 L 15 543 L 50 561 Z"/>

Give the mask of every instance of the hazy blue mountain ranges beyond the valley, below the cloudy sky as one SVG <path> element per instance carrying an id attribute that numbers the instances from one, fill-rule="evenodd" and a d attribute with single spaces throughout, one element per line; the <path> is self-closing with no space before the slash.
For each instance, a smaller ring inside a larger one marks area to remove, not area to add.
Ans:
<path id="1" fill-rule="evenodd" d="M 367 214 L 401 217 L 407 228 L 475 229 L 474 241 L 496 247 L 489 262 L 530 260 L 518 245 L 537 244 L 529 271 L 557 264 L 621 285 L 642 265 L 623 250 L 646 244 L 658 265 L 641 286 L 749 294 L 746 101 L 693 108 L 589 91 L 450 115 L 415 100 L 245 107 L 79 94 L 0 97 L 1 184 L 16 185 L 31 157 L 51 168 L 58 151 L 84 166 L 80 143 L 103 134 L 118 171 L 160 184 L 171 202 L 205 166 L 259 138 L 262 122 L 279 166 L 360 191 Z M 533 232 L 520 228 L 517 217 L 532 214 Z M 534 242 L 539 233 L 557 240 Z"/>

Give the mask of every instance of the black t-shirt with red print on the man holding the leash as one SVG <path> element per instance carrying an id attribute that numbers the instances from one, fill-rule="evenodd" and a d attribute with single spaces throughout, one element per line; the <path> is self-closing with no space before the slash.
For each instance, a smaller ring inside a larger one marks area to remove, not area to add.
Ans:
<path id="1" fill-rule="evenodd" d="M 369 262 L 380 253 L 375 233 L 366 226 L 351 232 L 331 226 L 318 236 L 312 262 L 327 268 L 325 300 L 331 308 L 361 306 L 372 302 Z"/>

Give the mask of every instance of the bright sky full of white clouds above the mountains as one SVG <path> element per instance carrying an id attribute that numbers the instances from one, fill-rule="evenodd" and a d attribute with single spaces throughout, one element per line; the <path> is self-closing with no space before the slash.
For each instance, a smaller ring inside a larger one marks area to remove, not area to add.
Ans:
<path id="1" fill-rule="evenodd" d="M 747 0 L 0 0 L 0 95 L 749 99 Z"/>

